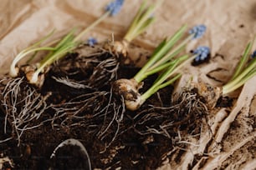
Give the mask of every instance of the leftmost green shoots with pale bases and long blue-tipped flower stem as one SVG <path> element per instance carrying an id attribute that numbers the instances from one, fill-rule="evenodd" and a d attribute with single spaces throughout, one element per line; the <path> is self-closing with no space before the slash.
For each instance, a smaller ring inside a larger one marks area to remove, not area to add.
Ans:
<path id="1" fill-rule="evenodd" d="M 34 54 L 28 59 L 28 62 L 31 62 L 33 58 L 36 56 L 37 52 L 39 51 L 49 51 L 49 53 L 43 58 L 43 60 L 39 63 L 38 68 L 33 72 L 32 76 L 28 77 L 28 81 L 33 84 L 42 84 L 38 83 L 38 75 L 39 73 L 44 71 L 45 67 L 48 67 L 53 62 L 59 60 L 59 58 L 64 57 L 64 55 L 67 52 L 71 52 L 74 50 L 75 47 L 78 47 L 80 43 L 80 38 L 84 36 L 85 33 L 89 32 L 90 29 L 95 28 L 96 25 L 101 23 L 106 17 L 108 16 L 114 16 L 115 14 L 119 13 L 120 8 L 123 4 L 124 0 L 115 0 L 113 2 L 110 2 L 107 7 L 105 8 L 106 12 L 98 18 L 94 23 L 92 23 L 88 28 L 85 28 L 84 31 L 80 32 L 78 36 L 74 36 L 75 29 L 72 29 L 65 37 L 60 39 L 60 41 L 53 41 L 50 42 L 48 46 L 39 47 L 39 45 L 44 42 L 46 39 L 48 39 L 53 32 L 49 33 L 46 37 L 44 37 L 39 42 L 36 42 L 33 44 L 33 46 L 28 47 L 24 49 L 22 52 L 20 52 L 13 60 L 13 63 L 10 67 L 10 75 L 12 77 L 18 76 L 18 69 L 16 68 L 16 64 L 18 61 L 20 61 L 23 57 L 27 56 L 28 54 L 34 52 Z M 55 45 L 54 47 L 50 47 L 52 45 Z"/>

